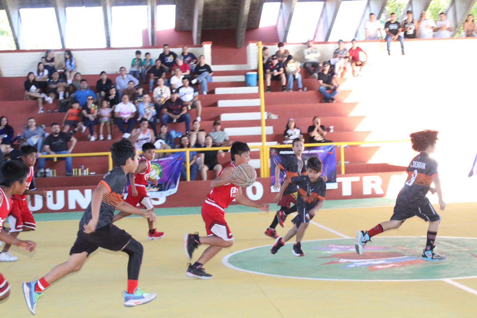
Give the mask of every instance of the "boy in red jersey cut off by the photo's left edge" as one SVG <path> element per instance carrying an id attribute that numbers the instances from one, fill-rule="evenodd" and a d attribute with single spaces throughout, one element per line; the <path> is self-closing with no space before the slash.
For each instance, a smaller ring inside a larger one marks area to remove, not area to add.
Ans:
<path id="1" fill-rule="evenodd" d="M 29 252 L 35 249 L 35 243 L 22 241 L 15 236 L 2 232 L 2 226 L 10 213 L 11 196 L 22 194 L 27 186 L 27 178 L 30 169 L 23 162 L 10 160 L 1 168 L 0 182 L 0 241 L 7 244 L 16 245 Z M 0 301 L 10 295 L 8 281 L 0 273 Z"/>

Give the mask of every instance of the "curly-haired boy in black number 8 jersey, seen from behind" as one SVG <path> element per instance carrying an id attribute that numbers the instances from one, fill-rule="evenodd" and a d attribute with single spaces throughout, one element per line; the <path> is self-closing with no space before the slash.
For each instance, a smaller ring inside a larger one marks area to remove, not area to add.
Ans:
<path id="1" fill-rule="evenodd" d="M 427 191 L 437 193 L 439 208 L 444 210 L 446 203 L 442 201 L 441 182 L 437 174 L 437 161 L 429 158 L 429 154 L 436 150 L 438 131 L 424 130 L 412 133 L 411 143 L 415 151 L 420 154 L 414 157 L 406 168 L 407 180 L 403 189 L 399 191 L 394 206 L 391 220 L 379 223 L 369 231 L 357 231 L 354 245 L 358 254 L 363 254 L 363 247 L 371 242 L 371 238 L 384 231 L 397 229 L 403 222 L 415 215 L 425 221 L 429 221 L 427 230 L 427 242 L 421 258 L 430 262 L 442 262 L 447 256 L 434 251 L 437 229 L 441 222 L 441 216 L 434 210 L 429 200 L 425 197 Z M 434 181 L 435 188 L 431 188 Z"/>

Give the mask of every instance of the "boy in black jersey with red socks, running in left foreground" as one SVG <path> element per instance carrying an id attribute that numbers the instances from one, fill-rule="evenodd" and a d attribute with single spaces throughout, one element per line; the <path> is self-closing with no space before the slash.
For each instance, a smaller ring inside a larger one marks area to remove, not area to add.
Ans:
<path id="1" fill-rule="evenodd" d="M 28 309 L 33 315 L 36 313 L 36 303 L 43 295 L 43 289 L 62 277 L 79 271 L 86 257 L 98 247 L 123 251 L 129 255 L 127 290 L 124 291 L 123 303 L 125 307 L 142 305 L 156 298 L 156 294 L 147 294 L 137 288 L 143 246 L 129 233 L 113 225 L 114 210 L 142 215 L 150 221 L 156 220 L 152 210 L 137 209 L 123 200 L 126 173 L 134 173 L 137 169 L 137 150 L 131 141 L 125 138 L 115 142 L 110 150 L 116 167 L 104 176 L 93 191 L 92 200 L 81 218 L 76 241 L 70 250 L 70 258 L 53 267 L 39 280 L 22 284 Z"/>

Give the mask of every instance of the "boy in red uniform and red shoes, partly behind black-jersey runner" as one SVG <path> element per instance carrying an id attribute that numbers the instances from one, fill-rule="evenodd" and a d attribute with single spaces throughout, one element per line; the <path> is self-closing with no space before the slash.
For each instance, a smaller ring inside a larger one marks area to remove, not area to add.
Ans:
<path id="1" fill-rule="evenodd" d="M 127 197 L 125 201 L 132 206 L 140 204 L 147 211 L 151 210 L 154 213 L 154 205 L 146 193 L 146 186 L 148 180 L 157 185 L 157 180 L 149 177 L 149 173 L 151 173 L 151 160 L 154 159 L 156 147 L 152 143 L 146 142 L 142 150 L 143 158 L 139 160 L 135 173 L 129 174 L 130 183 L 127 187 Z M 119 212 L 114 216 L 113 223 L 128 215 L 131 215 L 131 213 Z M 147 233 L 148 240 L 155 240 L 164 236 L 164 232 L 157 232 L 153 227 L 154 222 L 148 219 L 147 223 L 149 224 L 149 232 Z"/>

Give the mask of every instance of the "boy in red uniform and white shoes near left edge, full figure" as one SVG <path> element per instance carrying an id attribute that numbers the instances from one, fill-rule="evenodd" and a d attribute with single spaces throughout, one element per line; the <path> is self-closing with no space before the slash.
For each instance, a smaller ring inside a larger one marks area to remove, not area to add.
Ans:
<path id="1" fill-rule="evenodd" d="M 29 167 L 30 173 L 26 180 L 27 186 L 22 194 L 14 194 L 10 214 L 8 215 L 8 223 L 10 224 L 10 235 L 17 237 L 20 232 L 35 231 L 36 224 L 28 208 L 26 201 L 27 195 L 41 195 L 46 197 L 46 191 L 36 190 L 33 166 L 36 162 L 36 148 L 30 145 L 21 147 L 21 159 Z M 18 257 L 12 256 L 9 252 L 11 244 L 5 244 L 0 252 L 0 262 L 15 262 Z"/>

